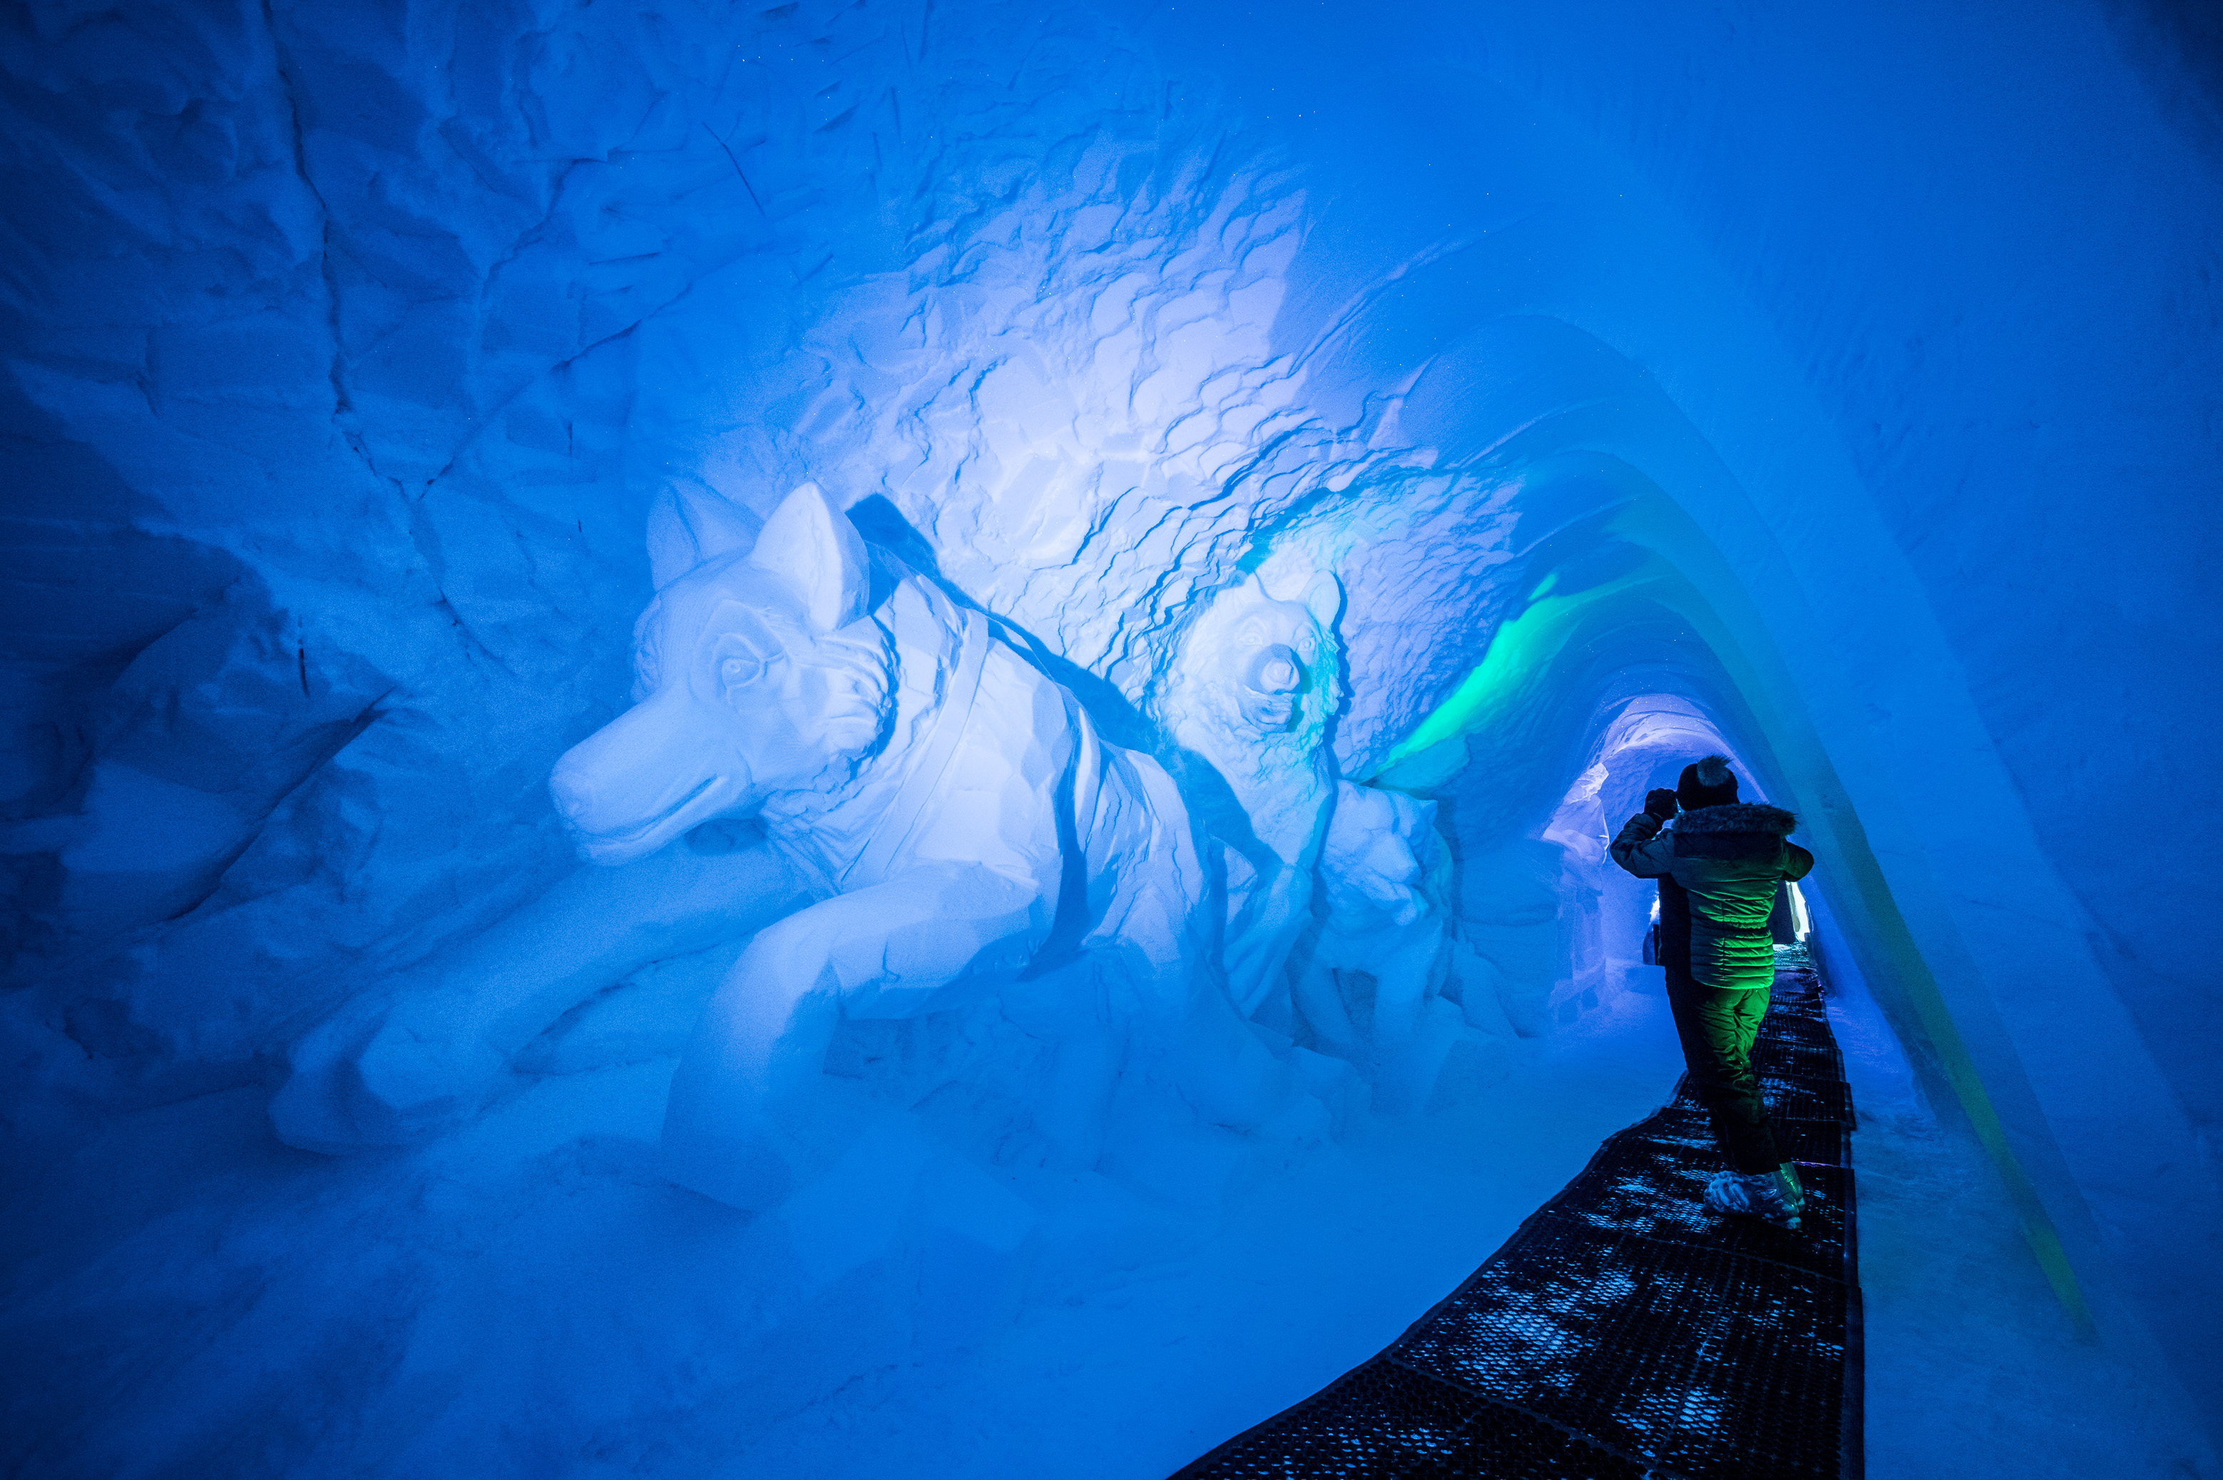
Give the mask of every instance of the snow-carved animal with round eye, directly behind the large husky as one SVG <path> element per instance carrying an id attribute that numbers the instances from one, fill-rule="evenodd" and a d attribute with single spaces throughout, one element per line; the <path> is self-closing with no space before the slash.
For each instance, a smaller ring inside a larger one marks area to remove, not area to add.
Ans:
<path id="1" fill-rule="evenodd" d="M 1189 629 L 1158 700 L 1167 733 L 1187 751 L 1187 789 L 1203 802 L 1225 869 L 1220 953 L 1243 1016 L 1269 1007 L 1289 947 L 1309 922 L 1334 800 L 1320 740 L 1334 711 L 1329 633 L 1340 604 L 1343 589 L 1327 573 L 1298 600 L 1276 598 L 1249 576 Z"/>

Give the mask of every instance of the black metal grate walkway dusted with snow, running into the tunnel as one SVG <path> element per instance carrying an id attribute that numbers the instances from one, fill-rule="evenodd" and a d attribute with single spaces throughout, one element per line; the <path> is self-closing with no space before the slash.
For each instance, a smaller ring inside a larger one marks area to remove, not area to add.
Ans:
<path id="1" fill-rule="evenodd" d="M 1754 1062 L 1801 1231 L 1703 1207 L 1721 1153 L 1678 1084 L 1396 1344 L 1174 1480 L 1858 1480 L 1852 1096 L 1798 947 Z"/>

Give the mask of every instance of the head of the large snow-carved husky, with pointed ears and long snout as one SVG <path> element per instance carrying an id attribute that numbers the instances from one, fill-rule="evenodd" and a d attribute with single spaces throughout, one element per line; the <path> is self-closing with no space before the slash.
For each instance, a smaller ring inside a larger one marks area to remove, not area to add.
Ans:
<path id="1" fill-rule="evenodd" d="M 889 718 L 894 649 L 865 613 L 867 587 L 856 529 L 803 484 L 754 549 L 658 591 L 634 629 L 634 707 L 549 776 L 578 851 L 627 862 L 847 780 Z"/>

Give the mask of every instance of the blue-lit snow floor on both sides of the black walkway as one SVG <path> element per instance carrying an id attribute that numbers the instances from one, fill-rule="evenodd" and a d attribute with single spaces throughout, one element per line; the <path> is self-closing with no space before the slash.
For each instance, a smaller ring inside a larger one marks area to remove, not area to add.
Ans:
<path id="1" fill-rule="evenodd" d="M 2172 1398 L 2076 1342 L 1881 1024 L 1838 1016 L 1867 1473 L 2216 1476 Z M 0 1473 L 1156 1480 L 1396 1338 L 1678 1062 L 1665 998 L 1627 993 L 1518 1044 L 1481 1102 L 1372 1127 L 1218 1227 L 1071 1178 L 1045 1247 L 1098 1273 L 1038 1264 L 1016 1320 L 976 1329 L 945 1293 L 923 1333 L 916 1271 L 782 1298 L 791 1251 L 654 1178 L 669 1071 L 547 1078 L 351 1162 L 280 1147 L 262 1091 L 93 1122 L 18 1104 Z"/>

